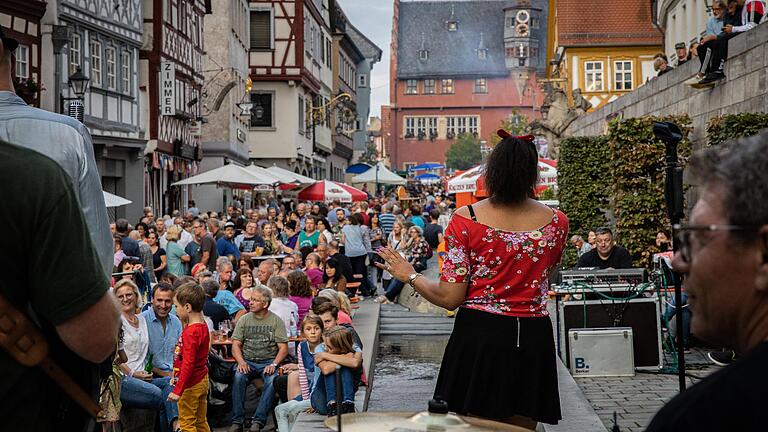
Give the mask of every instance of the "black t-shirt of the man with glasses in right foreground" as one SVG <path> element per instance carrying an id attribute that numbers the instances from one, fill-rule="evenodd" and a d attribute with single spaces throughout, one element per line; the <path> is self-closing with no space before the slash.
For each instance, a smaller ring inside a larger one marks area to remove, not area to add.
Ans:
<path id="1" fill-rule="evenodd" d="M 646 432 L 764 431 L 768 425 L 768 342 L 675 396 Z"/>

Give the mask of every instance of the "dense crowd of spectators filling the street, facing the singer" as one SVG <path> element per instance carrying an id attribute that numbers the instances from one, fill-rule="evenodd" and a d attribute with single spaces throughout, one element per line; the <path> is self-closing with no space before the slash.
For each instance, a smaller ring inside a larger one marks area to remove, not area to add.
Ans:
<path id="1" fill-rule="evenodd" d="M 374 265 L 382 262 L 376 251 L 383 246 L 426 268 L 443 242 L 440 217 L 453 210 L 436 192 L 423 192 L 425 208 L 401 208 L 382 197 L 330 206 L 273 201 L 245 211 L 235 202 L 219 215 L 192 203 L 184 214 L 163 217 L 147 208 L 133 226 L 117 220 L 112 284 L 122 311 L 122 344 L 110 383 L 119 397 L 106 401 L 110 419 L 119 419 L 120 409 L 144 408 L 155 410 L 164 431 L 180 423 L 202 425 L 200 392 L 207 394 L 208 384 L 195 387 L 199 371 L 187 378 L 194 395 L 189 399 L 198 402 L 197 414 L 187 409 L 185 417 L 174 399 L 174 359 L 178 347 L 187 345 L 205 345 L 207 359 L 208 345 L 220 353 L 221 340 L 231 341 L 231 351 L 214 358 L 231 376 L 211 379 L 229 384 L 220 397 L 231 404 L 233 432 L 260 430 L 273 409 L 281 431 L 289 431 L 302 411 L 354 412 L 354 394 L 365 375 L 352 301 L 375 297 L 379 289 L 377 301 L 396 301 L 404 283 Z M 178 300 L 179 290 L 193 288 L 199 301 Z M 180 319 L 180 307 L 187 317 L 199 314 L 210 339 L 204 341 L 198 329 L 190 342 L 183 341 L 189 326 Z M 186 357 L 197 360 L 200 354 L 192 350 Z M 343 387 L 339 401 L 336 373 Z M 257 378 L 261 393 L 247 419 L 246 389 Z"/>

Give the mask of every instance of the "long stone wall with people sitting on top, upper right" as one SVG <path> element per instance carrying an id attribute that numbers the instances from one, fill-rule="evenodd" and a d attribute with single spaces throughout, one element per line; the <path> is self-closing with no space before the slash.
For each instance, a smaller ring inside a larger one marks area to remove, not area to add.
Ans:
<path id="1" fill-rule="evenodd" d="M 698 72 L 699 61 L 682 65 L 571 124 L 574 136 L 605 133 L 610 118 L 688 114 L 693 120 L 694 146 L 706 142 L 710 118 L 742 112 L 768 112 L 768 23 L 731 39 L 727 78 L 712 89 L 697 90 L 686 81 Z"/>

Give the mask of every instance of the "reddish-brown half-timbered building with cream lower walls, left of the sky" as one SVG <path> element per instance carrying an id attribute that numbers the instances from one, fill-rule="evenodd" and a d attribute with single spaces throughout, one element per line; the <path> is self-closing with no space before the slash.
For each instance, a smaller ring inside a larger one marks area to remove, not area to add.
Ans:
<path id="1" fill-rule="evenodd" d="M 325 178 L 333 151 L 330 116 L 332 39 L 328 0 L 251 0 L 249 63 L 253 89 L 249 156 Z"/>

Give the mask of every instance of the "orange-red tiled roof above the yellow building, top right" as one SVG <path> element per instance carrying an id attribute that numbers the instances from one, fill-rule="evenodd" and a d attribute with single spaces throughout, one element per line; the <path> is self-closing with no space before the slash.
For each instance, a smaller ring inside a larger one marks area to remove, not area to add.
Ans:
<path id="1" fill-rule="evenodd" d="M 575 45 L 661 45 L 648 0 L 559 0 L 558 43 Z"/>

